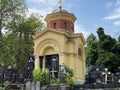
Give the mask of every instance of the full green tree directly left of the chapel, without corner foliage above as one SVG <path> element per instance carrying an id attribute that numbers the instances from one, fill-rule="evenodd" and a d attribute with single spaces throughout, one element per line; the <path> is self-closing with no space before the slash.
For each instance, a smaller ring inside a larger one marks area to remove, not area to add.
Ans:
<path id="1" fill-rule="evenodd" d="M 6 42 L 4 47 L 5 55 L 0 59 L 2 62 L 10 60 L 7 65 L 17 64 L 19 70 L 25 70 L 27 67 L 28 56 L 33 54 L 32 35 L 42 27 L 41 17 L 31 14 L 29 17 L 16 14 L 14 18 L 8 22 L 6 29 Z M 2 53 L 1 55 L 3 55 Z M 3 58 L 6 59 L 3 61 Z"/>

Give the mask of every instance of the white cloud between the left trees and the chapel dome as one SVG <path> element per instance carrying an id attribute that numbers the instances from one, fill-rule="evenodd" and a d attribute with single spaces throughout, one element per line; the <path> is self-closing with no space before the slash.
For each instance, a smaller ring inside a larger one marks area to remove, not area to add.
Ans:
<path id="1" fill-rule="evenodd" d="M 29 0 L 28 2 L 34 3 L 31 6 L 28 5 L 28 15 L 31 13 L 39 13 L 45 17 L 47 14 L 52 13 L 57 6 L 57 0 Z"/>

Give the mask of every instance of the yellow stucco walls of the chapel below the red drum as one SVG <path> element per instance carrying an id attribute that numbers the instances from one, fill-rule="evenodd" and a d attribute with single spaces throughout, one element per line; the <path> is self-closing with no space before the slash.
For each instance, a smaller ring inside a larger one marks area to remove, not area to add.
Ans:
<path id="1" fill-rule="evenodd" d="M 85 79 L 85 50 L 82 34 L 74 34 L 65 30 L 46 28 L 33 36 L 35 69 L 39 69 L 39 56 L 59 55 L 59 64 L 64 63 L 74 71 L 74 80 Z M 78 49 L 81 56 L 78 55 Z M 45 62 L 44 62 L 45 64 Z M 43 66 L 45 67 L 45 66 Z"/>

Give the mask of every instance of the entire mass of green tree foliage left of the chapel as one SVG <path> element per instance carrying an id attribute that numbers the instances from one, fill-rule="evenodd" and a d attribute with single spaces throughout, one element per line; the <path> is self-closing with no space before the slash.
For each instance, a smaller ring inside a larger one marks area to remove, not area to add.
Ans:
<path id="1" fill-rule="evenodd" d="M 0 6 L 0 63 L 25 70 L 28 56 L 33 54 L 32 35 L 42 28 L 42 17 L 27 16 L 24 0 L 1 0 Z M 5 34 L 2 34 L 3 27 Z"/>

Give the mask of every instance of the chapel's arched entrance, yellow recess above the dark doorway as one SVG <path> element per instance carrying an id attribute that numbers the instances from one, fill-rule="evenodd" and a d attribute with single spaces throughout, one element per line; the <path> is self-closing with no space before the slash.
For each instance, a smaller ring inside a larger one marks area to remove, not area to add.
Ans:
<path id="1" fill-rule="evenodd" d="M 59 53 L 55 43 L 46 43 L 39 54 L 40 68 L 49 69 L 52 78 L 58 77 L 59 72 Z"/>

